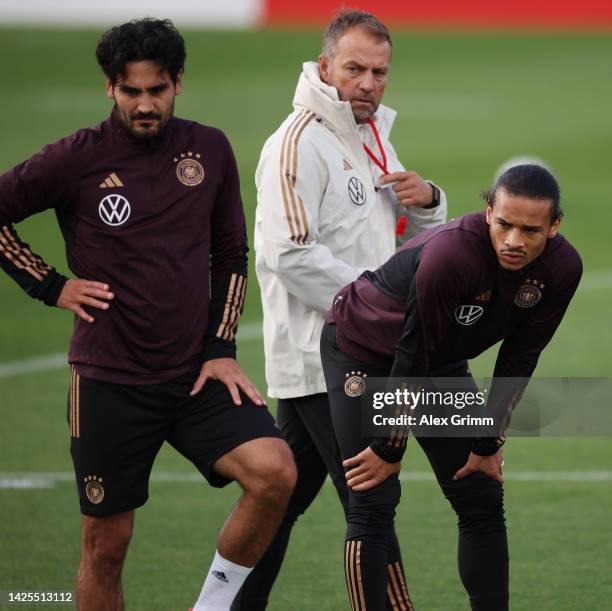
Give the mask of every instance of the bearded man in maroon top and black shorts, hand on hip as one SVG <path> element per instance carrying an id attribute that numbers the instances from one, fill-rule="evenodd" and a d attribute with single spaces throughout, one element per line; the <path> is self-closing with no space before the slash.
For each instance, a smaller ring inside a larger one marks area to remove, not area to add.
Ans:
<path id="1" fill-rule="evenodd" d="M 30 296 L 76 314 L 68 421 L 83 514 L 78 605 L 124 608 L 134 510 L 168 441 L 212 486 L 243 488 L 194 606 L 229 609 L 295 481 L 291 452 L 235 360 L 247 275 L 236 162 L 222 132 L 173 116 L 185 47 L 171 22 L 112 28 L 96 54 L 110 118 L 0 176 L 0 265 Z M 75 278 L 13 229 L 49 208 Z"/>

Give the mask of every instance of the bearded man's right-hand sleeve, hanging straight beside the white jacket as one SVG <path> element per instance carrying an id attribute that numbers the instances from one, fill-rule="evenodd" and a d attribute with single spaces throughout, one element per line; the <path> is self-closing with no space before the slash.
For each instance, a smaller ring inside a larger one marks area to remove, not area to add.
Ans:
<path id="1" fill-rule="evenodd" d="M 224 180 L 212 216 L 210 312 L 204 360 L 236 358 L 236 331 L 247 286 L 247 237 L 234 153 L 225 140 Z"/>

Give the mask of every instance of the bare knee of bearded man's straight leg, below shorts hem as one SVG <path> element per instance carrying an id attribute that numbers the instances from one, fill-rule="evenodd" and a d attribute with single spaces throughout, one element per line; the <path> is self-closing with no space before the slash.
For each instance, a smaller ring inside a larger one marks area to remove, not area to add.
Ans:
<path id="1" fill-rule="evenodd" d="M 88 518 L 83 525 L 83 558 L 105 572 L 121 570 L 132 538 L 131 521 L 118 524 L 113 517 Z"/>

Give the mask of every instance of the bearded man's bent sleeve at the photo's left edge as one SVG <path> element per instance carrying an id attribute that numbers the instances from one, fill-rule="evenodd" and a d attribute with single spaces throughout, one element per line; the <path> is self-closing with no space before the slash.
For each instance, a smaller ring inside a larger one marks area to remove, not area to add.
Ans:
<path id="1" fill-rule="evenodd" d="M 32 252 L 13 224 L 67 200 L 83 160 L 79 144 L 77 132 L 0 176 L 0 267 L 47 305 L 56 305 L 67 279 Z"/>

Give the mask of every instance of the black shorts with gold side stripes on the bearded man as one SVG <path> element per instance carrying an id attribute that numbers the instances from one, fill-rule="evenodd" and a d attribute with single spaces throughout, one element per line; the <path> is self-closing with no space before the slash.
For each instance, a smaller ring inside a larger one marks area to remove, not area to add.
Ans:
<path id="1" fill-rule="evenodd" d="M 68 424 L 81 513 L 107 516 L 144 505 L 164 441 L 221 488 L 230 480 L 213 470 L 217 459 L 246 441 L 281 437 L 266 407 L 242 392 L 242 405 L 234 405 L 222 382 L 209 380 L 190 397 L 198 373 L 131 386 L 82 378 L 73 370 Z"/>

